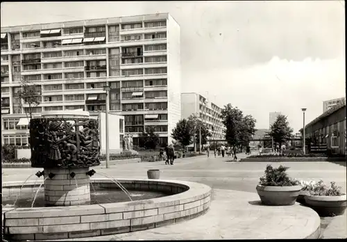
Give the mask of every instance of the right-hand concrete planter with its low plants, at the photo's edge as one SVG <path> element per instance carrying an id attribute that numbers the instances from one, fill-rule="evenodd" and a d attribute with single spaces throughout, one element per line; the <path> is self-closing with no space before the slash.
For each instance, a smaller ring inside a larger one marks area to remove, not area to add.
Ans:
<path id="1" fill-rule="evenodd" d="M 327 186 L 321 180 L 312 187 L 310 194 L 305 195 L 305 203 L 321 217 L 342 215 L 347 206 L 346 193 L 335 181 Z"/>

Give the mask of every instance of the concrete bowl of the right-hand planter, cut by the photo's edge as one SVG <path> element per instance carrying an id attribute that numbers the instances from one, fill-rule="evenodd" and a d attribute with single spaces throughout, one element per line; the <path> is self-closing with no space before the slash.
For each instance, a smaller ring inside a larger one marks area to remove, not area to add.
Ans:
<path id="1" fill-rule="evenodd" d="M 305 202 L 321 217 L 342 215 L 347 206 L 346 194 L 341 196 L 305 195 Z"/>

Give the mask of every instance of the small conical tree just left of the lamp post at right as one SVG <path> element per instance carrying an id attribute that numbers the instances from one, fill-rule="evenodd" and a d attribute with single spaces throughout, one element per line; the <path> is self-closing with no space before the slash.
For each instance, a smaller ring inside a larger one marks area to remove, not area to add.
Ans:
<path id="1" fill-rule="evenodd" d="M 269 135 L 273 141 L 282 145 L 287 140 L 291 140 L 293 129 L 289 127 L 289 122 L 285 115 L 278 115 L 275 122 L 270 127 Z"/>

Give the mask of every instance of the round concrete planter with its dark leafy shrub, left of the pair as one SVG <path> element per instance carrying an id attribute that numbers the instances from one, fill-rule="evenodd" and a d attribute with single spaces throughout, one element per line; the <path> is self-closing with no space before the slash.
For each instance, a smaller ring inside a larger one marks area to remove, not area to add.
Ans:
<path id="1" fill-rule="evenodd" d="M 260 177 L 257 193 L 262 204 L 271 206 L 287 206 L 296 202 L 301 191 L 300 182 L 287 175 L 288 168 L 266 166 L 264 176 Z"/>

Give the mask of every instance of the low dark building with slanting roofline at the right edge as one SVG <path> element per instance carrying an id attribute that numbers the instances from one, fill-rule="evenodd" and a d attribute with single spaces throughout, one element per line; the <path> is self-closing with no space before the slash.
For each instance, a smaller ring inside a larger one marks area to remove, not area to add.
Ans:
<path id="1" fill-rule="evenodd" d="M 346 154 L 346 102 L 332 106 L 307 124 L 305 138 L 314 145 L 326 145 L 333 154 Z"/>

